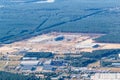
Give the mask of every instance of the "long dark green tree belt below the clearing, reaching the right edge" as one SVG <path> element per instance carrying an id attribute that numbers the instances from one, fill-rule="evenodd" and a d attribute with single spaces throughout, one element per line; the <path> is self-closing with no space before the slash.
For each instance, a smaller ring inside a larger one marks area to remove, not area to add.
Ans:
<path id="1" fill-rule="evenodd" d="M 108 57 L 113 54 L 120 53 L 120 49 L 105 49 L 95 50 L 93 52 L 82 52 L 81 57 L 66 56 L 65 60 L 69 61 L 69 64 L 74 67 L 86 67 L 91 63 L 94 63 L 103 57 Z"/>

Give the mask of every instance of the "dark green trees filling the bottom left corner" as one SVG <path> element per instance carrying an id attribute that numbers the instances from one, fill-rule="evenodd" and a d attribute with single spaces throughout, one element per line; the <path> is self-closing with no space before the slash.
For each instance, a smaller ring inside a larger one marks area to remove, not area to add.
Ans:
<path id="1" fill-rule="evenodd" d="M 34 75 L 24 76 L 22 74 L 14 74 L 0 71 L 0 80 L 41 80 Z"/>

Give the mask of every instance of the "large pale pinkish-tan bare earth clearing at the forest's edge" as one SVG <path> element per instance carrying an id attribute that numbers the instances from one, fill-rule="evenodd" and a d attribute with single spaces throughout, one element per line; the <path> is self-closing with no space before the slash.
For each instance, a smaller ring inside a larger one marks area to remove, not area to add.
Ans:
<path id="1" fill-rule="evenodd" d="M 100 49 L 120 49 L 120 44 L 114 43 L 96 43 L 93 39 L 103 34 L 85 34 L 85 33 L 48 33 L 32 37 L 27 40 L 6 44 L 0 47 L 0 53 L 12 53 L 20 51 L 44 51 L 53 53 L 75 53 L 81 51 L 91 52 Z M 55 41 L 57 37 L 64 37 L 64 40 Z M 93 48 L 99 45 L 98 48 Z"/>

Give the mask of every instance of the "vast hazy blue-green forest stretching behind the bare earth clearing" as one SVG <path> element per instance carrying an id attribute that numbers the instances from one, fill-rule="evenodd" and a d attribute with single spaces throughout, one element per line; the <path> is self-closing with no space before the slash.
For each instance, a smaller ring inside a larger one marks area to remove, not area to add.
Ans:
<path id="1" fill-rule="evenodd" d="M 0 1 L 0 43 L 53 31 L 104 33 L 96 41 L 120 43 L 119 0 L 37 1 Z"/>

